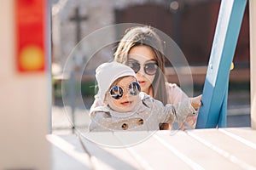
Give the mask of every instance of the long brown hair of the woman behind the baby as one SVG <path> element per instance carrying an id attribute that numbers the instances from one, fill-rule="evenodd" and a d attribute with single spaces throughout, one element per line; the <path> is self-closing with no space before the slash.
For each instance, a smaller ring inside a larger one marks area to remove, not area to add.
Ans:
<path id="1" fill-rule="evenodd" d="M 165 77 L 165 55 L 160 37 L 150 26 L 132 27 L 125 32 L 125 36 L 119 42 L 114 54 L 114 60 L 127 65 L 128 54 L 131 48 L 145 45 L 154 52 L 154 57 L 159 70 L 156 72 L 152 88 L 154 99 L 159 99 L 163 104 L 167 103 L 166 77 Z"/>

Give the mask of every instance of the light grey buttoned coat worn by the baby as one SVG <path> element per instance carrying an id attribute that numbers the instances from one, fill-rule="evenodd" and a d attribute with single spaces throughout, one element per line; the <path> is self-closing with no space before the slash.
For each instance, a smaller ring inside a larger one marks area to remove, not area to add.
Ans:
<path id="1" fill-rule="evenodd" d="M 108 105 L 98 106 L 90 111 L 90 132 L 123 130 L 159 130 L 162 122 L 184 122 L 187 116 L 197 112 L 190 99 L 177 104 L 163 105 L 148 94 L 140 93 L 140 102 L 131 112 L 117 112 Z"/>

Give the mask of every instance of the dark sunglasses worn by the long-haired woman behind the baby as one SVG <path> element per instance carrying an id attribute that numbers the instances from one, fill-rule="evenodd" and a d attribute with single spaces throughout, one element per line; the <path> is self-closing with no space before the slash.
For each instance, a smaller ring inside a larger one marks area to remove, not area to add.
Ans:
<path id="1" fill-rule="evenodd" d="M 128 66 L 137 73 L 141 70 L 141 65 L 137 61 L 128 61 Z M 156 73 L 158 65 L 156 63 L 147 63 L 144 65 L 144 72 L 149 76 L 152 76 Z"/>

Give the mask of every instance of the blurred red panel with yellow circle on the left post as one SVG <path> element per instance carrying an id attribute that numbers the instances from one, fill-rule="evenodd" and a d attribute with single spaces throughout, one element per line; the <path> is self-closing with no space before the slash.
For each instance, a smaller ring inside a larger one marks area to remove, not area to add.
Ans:
<path id="1" fill-rule="evenodd" d="M 46 70 L 44 0 L 15 1 L 17 70 Z"/>

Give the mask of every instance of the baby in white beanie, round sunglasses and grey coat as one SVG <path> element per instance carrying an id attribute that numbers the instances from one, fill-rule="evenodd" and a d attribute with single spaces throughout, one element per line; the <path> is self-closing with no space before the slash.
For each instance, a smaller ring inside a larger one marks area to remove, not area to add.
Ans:
<path id="1" fill-rule="evenodd" d="M 135 72 L 117 62 L 104 63 L 96 69 L 100 106 L 90 109 L 90 132 L 122 130 L 159 130 L 163 122 L 184 122 L 196 116 L 201 95 L 174 105 L 141 92 Z"/>

